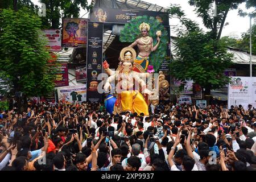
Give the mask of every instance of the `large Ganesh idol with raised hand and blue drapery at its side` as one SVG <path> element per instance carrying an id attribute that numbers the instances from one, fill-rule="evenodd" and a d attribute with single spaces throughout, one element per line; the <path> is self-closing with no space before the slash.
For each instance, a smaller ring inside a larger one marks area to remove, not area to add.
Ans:
<path id="1" fill-rule="evenodd" d="M 149 115 L 147 97 L 154 93 L 147 89 L 146 81 L 144 81 L 146 79 L 143 78 L 149 77 L 150 73 L 145 73 L 141 65 L 134 63 L 136 56 L 136 51 L 133 48 L 123 48 L 120 52 L 121 63 L 117 71 L 109 69 L 109 64 L 104 61 L 103 67 L 109 75 L 104 90 L 108 92 L 109 88 L 112 88 L 110 83 L 117 81 L 115 86 L 117 100 L 113 103 L 114 96 L 108 96 L 105 100 L 105 105 L 108 106 L 106 109 L 110 112 L 113 110 L 113 113 L 130 111 Z M 111 104 L 109 104 L 110 102 Z"/>

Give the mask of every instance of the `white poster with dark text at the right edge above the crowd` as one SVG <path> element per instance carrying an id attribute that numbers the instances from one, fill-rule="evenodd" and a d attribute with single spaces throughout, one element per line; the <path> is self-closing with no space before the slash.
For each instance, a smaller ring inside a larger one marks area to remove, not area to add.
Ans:
<path id="1" fill-rule="evenodd" d="M 228 107 L 242 105 L 247 109 L 249 104 L 256 107 L 255 77 L 231 77 L 228 87 Z"/>

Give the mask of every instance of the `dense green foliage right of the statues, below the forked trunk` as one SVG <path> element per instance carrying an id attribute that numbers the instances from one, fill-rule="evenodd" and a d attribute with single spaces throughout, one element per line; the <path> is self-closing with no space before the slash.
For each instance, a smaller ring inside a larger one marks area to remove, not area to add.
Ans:
<path id="1" fill-rule="evenodd" d="M 213 37 L 212 31 L 203 32 L 198 24 L 186 18 L 181 7 L 171 7 L 169 13 L 183 24 L 176 29 L 178 37 L 174 44 L 178 58 L 171 61 L 171 75 L 182 81 L 192 79 L 209 95 L 211 89 L 228 82 L 224 70 L 232 64 L 233 56 L 226 52 L 217 36 Z"/>

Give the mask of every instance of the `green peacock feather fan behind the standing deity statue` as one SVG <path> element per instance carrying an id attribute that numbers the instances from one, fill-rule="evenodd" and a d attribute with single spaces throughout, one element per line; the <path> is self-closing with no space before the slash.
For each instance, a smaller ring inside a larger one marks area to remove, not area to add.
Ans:
<path id="1" fill-rule="evenodd" d="M 152 16 L 148 17 L 147 15 L 138 16 L 137 19 L 133 19 L 130 21 L 130 23 L 125 24 L 125 28 L 121 30 L 119 40 L 121 42 L 128 43 L 132 43 L 137 40 L 141 35 L 141 31 L 139 31 L 139 25 L 143 22 L 150 24 L 149 36 L 153 38 L 154 46 L 157 43 L 156 32 L 159 30 L 162 31 L 162 36 L 160 37 L 161 41 L 158 49 L 156 49 L 156 51 L 154 52 L 151 52 L 149 57 L 150 64 L 153 65 L 155 71 L 158 72 L 166 57 L 168 47 L 168 33 L 166 28 L 164 28 L 163 24 L 158 22 L 157 19 Z"/>

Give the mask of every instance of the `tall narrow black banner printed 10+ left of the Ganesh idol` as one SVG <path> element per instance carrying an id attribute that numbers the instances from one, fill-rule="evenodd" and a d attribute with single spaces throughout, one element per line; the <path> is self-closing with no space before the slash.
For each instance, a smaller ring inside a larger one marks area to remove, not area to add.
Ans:
<path id="1" fill-rule="evenodd" d="M 102 73 L 103 23 L 88 22 L 87 46 L 87 96 L 90 102 L 101 102 L 102 94 L 98 93 L 98 84 Z"/>

